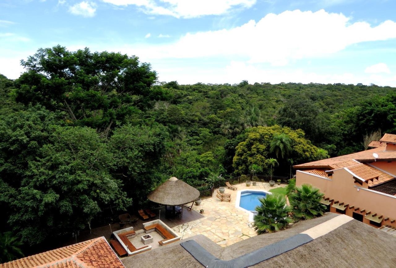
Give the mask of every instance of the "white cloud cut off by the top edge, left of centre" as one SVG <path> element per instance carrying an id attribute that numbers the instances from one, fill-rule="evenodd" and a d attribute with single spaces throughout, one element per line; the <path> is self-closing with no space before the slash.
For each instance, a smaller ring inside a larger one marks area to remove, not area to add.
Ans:
<path id="1" fill-rule="evenodd" d="M 205 15 L 221 15 L 234 7 L 249 8 L 257 0 L 102 0 L 116 6 L 134 5 L 143 12 L 170 15 L 176 18 L 196 18 Z"/>

